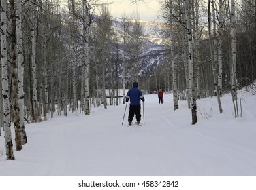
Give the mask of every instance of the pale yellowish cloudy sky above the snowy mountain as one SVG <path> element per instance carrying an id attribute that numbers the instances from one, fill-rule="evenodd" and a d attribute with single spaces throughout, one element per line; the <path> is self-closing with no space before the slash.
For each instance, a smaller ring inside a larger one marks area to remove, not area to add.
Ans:
<path id="1" fill-rule="evenodd" d="M 140 20 L 157 21 L 160 5 L 157 0 L 144 0 L 146 2 L 138 2 L 132 4 L 131 0 L 101 0 L 103 3 L 111 3 L 108 5 L 111 15 L 121 18 L 123 13 L 128 16 L 134 16 L 138 12 Z"/>

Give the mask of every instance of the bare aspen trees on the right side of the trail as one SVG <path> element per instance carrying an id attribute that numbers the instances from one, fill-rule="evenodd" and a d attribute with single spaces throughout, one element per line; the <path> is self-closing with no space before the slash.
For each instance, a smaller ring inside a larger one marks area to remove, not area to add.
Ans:
<path id="1" fill-rule="evenodd" d="M 255 2 L 164 0 L 161 5 L 170 37 L 165 64 L 170 65 L 166 74 L 172 75 L 174 109 L 179 98 L 188 100 L 194 124 L 197 98 L 217 96 L 222 113 L 221 96 L 231 92 L 234 117 L 241 116 L 237 92 L 255 81 Z"/>

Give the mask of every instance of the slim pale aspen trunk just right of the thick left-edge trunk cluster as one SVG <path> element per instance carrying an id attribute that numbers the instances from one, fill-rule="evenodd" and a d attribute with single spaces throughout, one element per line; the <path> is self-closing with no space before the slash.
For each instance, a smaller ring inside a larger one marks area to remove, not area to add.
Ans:
<path id="1" fill-rule="evenodd" d="M 33 120 L 39 121 L 38 115 L 38 100 L 37 100 L 37 78 L 35 65 L 35 2 L 33 0 L 31 12 L 31 67 L 32 67 L 32 88 L 33 88 Z"/>

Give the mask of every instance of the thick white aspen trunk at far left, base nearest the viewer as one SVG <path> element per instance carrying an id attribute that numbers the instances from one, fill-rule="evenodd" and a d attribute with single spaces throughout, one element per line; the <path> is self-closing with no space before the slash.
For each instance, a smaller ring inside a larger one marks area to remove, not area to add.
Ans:
<path id="1" fill-rule="evenodd" d="M 10 102 L 9 102 L 9 79 L 8 79 L 8 64 L 7 64 L 7 2 L 1 0 L 1 71 L 2 71 L 2 96 L 3 96 L 3 129 L 5 134 L 5 151 L 8 160 L 14 160 L 12 132 L 11 132 L 11 117 L 10 117 Z"/>

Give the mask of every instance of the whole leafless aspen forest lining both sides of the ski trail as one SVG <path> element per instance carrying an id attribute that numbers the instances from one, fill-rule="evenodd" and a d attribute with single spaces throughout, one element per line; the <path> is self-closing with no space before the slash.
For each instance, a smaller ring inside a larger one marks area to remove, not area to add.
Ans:
<path id="1" fill-rule="evenodd" d="M 256 78 L 255 1 L 159 3 L 170 53 L 145 76 L 139 75 L 144 43 L 138 16 L 124 14 L 116 35 L 110 11 L 97 0 L 68 0 L 65 9 L 58 0 L 1 0 L 0 127 L 7 159 L 14 159 L 11 123 L 21 150 L 29 122 L 69 111 L 90 115 L 100 104 L 107 109 L 118 104 L 117 89 L 135 80 L 148 92 L 172 90 L 174 109 L 187 100 L 192 124 L 198 98 L 217 96 L 222 113 L 226 92 L 234 116 L 242 115 L 237 92 Z"/>

